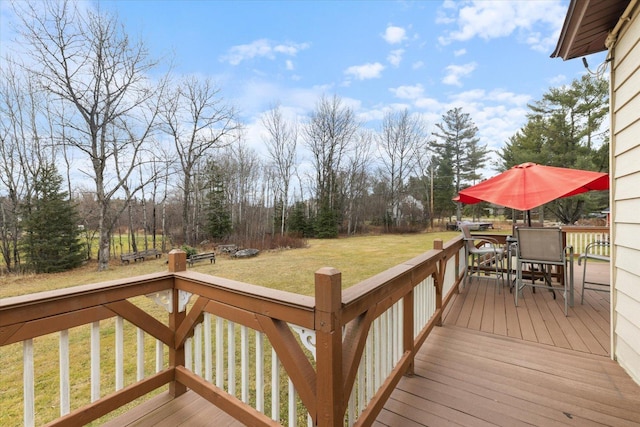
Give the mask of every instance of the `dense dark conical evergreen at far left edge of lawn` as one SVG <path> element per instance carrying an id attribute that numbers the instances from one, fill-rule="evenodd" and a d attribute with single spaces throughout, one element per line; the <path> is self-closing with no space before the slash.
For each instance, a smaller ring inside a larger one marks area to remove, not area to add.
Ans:
<path id="1" fill-rule="evenodd" d="M 23 209 L 21 248 L 36 273 L 55 273 L 80 266 L 85 256 L 80 219 L 55 166 L 46 165 Z"/>

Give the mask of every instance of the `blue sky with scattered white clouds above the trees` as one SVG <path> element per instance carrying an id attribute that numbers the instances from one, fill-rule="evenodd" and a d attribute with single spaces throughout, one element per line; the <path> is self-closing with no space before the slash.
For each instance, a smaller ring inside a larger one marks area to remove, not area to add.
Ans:
<path id="1" fill-rule="evenodd" d="M 461 107 L 480 143 L 498 150 L 525 124 L 527 103 L 587 72 L 579 59 L 550 58 L 568 0 L 85 3 L 117 14 L 175 74 L 211 77 L 257 151 L 266 110 L 280 104 L 303 119 L 323 95 L 340 97 L 372 129 L 406 108 L 435 131 Z M 604 54 L 587 59 L 595 70 Z"/>

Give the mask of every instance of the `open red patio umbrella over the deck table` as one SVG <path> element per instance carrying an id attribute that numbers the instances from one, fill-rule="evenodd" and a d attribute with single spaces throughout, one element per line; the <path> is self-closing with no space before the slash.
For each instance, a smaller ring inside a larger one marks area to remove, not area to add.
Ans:
<path id="1" fill-rule="evenodd" d="M 606 173 L 522 163 L 465 188 L 454 200 L 467 204 L 485 201 L 530 211 L 562 197 L 608 189 L 609 174 Z"/>

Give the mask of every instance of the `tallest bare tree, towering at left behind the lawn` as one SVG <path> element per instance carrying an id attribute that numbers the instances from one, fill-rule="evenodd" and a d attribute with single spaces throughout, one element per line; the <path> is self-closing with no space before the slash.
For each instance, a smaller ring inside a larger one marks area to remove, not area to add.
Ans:
<path id="1" fill-rule="evenodd" d="M 142 43 L 131 42 L 113 16 L 81 13 L 68 1 L 16 7 L 32 57 L 30 71 L 47 92 L 75 111 L 66 111 L 60 119 L 65 129 L 73 130 L 65 134 L 65 142 L 91 165 L 83 172 L 93 180 L 100 206 L 98 269 L 105 270 L 111 232 L 121 212 L 111 211 L 111 200 L 136 171 L 156 119 L 153 103 L 163 86 L 150 84 L 146 77 L 156 63 L 148 59 Z"/>

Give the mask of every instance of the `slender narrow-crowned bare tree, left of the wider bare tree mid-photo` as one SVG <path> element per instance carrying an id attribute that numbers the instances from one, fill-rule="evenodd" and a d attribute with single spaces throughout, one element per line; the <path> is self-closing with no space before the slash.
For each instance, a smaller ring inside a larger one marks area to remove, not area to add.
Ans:
<path id="1" fill-rule="evenodd" d="M 289 186 L 296 165 L 296 146 L 298 144 L 298 126 L 289 123 L 282 116 L 280 106 L 267 111 L 262 124 L 268 132 L 265 144 L 271 163 L 275 169 L 275 190 L 278 192 L 276 206 L 280 206 L 280 234 L 284 235 L 287 206 L 289 204 Z"/>

